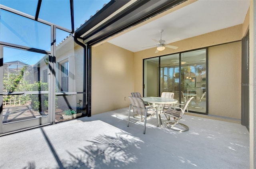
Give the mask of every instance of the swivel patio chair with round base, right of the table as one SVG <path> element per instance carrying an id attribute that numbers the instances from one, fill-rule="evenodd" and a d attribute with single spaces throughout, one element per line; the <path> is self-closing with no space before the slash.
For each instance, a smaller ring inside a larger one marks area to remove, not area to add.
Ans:
<path id="1" fill-rule="evenodd" d="M 186 108 L 188 107 L 188 104 L 190 103 L 190 101 L 193 99 L 194 97 L 190 97 L 188 100 L 186 100 L 184 106 L 181 107 L 175 107 L 175 106 L 164 106 L 162 111 L 164 113 L 164 115 L 168 115 L 168 117 L 166 116 L 166 118 L 168 120 L 170 120 L 170 116 L 172 116 L 174 118 L 175 122 L 168 122 L 166 123 L 166 126 L 170 129 L 176 130 L 176 131 L 188 131 L 189 127 L 185 124 L 179 123 L 179 120 L 183 118 L 183 115 L 185 113 Z M 174 103 L 175 104 L 175 103 Z"/>

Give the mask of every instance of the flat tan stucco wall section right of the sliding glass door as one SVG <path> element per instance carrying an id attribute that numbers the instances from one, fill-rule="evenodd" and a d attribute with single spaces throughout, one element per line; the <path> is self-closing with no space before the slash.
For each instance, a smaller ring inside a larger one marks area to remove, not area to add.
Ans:
<path id="1" fill-rule="evenodd" d="M 241 118 L 241 42 L 209 48 L 209 114 Z"/>

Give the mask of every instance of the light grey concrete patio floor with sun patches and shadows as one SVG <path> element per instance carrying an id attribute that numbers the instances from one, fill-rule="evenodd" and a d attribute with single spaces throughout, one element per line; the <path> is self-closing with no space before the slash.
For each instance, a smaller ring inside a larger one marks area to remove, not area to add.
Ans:
<path id="1" fill-rule="evenodd" d="M 143 122 L 128 107 L 0 137 L 1 169 L 248 169 L 249 132 L 184 115 L 189 131 Z M 162 114 L 162 121 L 166 118 Z"/>

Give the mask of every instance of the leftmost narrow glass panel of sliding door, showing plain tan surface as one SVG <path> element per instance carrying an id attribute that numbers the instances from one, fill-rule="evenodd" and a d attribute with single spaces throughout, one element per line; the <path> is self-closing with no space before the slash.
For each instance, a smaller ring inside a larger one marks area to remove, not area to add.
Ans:
<path id="1" fill-rule="evenodd" d="M 159 58 L 144 60 L 144 97 L 159 96 Z"/>

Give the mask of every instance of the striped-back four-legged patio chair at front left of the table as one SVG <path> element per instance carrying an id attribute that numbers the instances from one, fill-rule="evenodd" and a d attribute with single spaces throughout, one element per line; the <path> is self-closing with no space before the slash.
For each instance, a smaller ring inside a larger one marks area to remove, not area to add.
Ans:
<path id="1" fill-rule="evenodd" d="M 139 97 L 131 97 L 131 96 L 128 96 L 128 97 L 129 97 L 129 99 L 131 101 L 131 104 L 130 104 L 130 107 L 129 107 L 129 115 L 128 115 L 127 127 L 129 127 L 131 109 L 133 109 L 134 113 L 140 114 L 141 121 L 144 121 L 144 131 L 143 131 L 143 134 L 145 134 L 146 133 L 146 122 L 147 122 L 147 118 L 145 118 L 145 117 L 149 117 L 152 113 L 158 111 L 157 107 L 156 107 L 156 109 L 154 109 L 153 106 L 146 107 L 145 104 L 144 104 L 144 101 L 141 98 L 139 98 Z"/>

